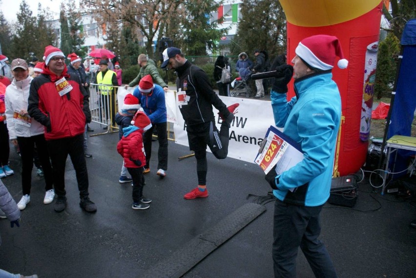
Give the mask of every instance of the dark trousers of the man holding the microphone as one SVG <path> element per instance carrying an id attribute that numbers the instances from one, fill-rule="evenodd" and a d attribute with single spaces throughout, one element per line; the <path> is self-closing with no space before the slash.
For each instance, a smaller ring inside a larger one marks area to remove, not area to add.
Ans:
<path id="1" fill-rule="evenodd" d="M 300 247 L 317 278 L 337 278 L 331 257 L 318 239 L 322 206 L 304 207 L 276 199 L 273 216 L 273 268 L 275 278 L 296 278 Z"/>

